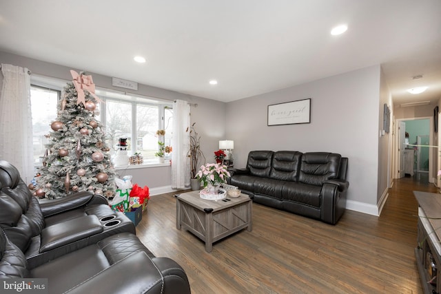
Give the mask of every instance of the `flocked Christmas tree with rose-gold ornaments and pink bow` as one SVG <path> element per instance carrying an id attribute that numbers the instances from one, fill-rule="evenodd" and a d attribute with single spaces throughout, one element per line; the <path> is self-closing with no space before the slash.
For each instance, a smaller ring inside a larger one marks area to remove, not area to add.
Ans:
<path id="1" fill-rule="evenodd" d="M 116 189 L 102 124 L 96 120 L 92 76 L 70 71 L 73 81 L 63 90 L 57 119 L 37 177 L 39 197 L 62 198 L 78 191 L 91 191 L 110 198 Z"/>

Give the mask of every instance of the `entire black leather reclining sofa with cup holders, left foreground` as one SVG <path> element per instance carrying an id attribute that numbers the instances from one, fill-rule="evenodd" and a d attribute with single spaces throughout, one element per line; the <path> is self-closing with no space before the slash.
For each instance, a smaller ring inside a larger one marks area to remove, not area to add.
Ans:
<path id="1" fill-rule="evenodd" d="M 190 293 L 181 266 L 155 258 L 103 196 L 39 203 L 0 160 L 0 207 L 0 278 L 45 277 L 49 293 Z"/>

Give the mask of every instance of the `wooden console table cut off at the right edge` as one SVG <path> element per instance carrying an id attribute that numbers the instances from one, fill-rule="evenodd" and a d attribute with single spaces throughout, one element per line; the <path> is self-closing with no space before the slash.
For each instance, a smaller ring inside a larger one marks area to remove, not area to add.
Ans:
<path id="1" fill-rule="evenodd" d="M 441 194 L 413 191 L 418 200 L 416 264 L 424 293 L 441 293 Z"/>

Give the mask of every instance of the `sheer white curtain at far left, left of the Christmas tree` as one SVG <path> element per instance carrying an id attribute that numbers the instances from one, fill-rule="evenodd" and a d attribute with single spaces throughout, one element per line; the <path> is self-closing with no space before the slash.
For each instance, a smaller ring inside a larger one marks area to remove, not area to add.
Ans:
<path id="1" fill-rule="evenodd" d="M 0 159 L 10 162 L 30 183 L 34 178 L 30 74 L 27 68 L 1 64 Z"/>

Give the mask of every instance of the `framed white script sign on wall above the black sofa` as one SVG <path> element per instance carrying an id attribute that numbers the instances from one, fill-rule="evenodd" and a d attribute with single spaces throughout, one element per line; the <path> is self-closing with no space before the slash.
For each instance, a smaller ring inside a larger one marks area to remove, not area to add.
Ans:
<path id="1" fill-rule="evenodd" d="M 268 105 L 268 125 L 311 123 L 311 98 Z"/>

